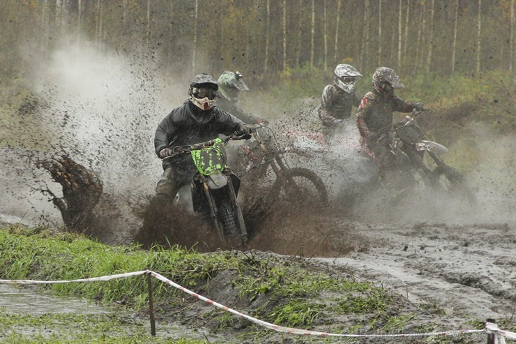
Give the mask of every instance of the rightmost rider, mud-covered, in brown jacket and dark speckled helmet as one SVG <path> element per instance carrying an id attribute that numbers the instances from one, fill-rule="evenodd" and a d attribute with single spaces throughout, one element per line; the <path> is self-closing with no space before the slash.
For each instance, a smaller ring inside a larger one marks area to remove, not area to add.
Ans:
<path id="1" fill-rule="evenodd" d="M 400 77 L 388 67 L 379 67 L 372 75 L 373 91 L 362 98 L 356 123 L 361 135 L 361 144 L 379 165 L 380 180 L 395 163 L 395 155 L 389 148 L 390 137 L 384 135 L 393 125 L 393 112 L 423 110 L 423 103 L 409 103 L 394 95 L 395 89 L 404 88 Z"/>

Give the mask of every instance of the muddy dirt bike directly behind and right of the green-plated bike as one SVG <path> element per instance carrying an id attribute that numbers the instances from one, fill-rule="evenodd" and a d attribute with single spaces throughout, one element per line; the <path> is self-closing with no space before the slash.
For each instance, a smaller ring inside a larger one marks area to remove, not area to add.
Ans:
<path id="1" fill-rule="evenodd" d="M 328 191 L 317 173 L 305 167 L 290 167 L 287 162 L 286 154 L 305 155 L 305 151 L 281 147 L 273 130 L 264 124 L 257 126 L 252 135 L 255 145 L 243 148 L 244 170 L 254 183 L 272 179 L 270 200 L 294 206 L 328 202 Z"/>

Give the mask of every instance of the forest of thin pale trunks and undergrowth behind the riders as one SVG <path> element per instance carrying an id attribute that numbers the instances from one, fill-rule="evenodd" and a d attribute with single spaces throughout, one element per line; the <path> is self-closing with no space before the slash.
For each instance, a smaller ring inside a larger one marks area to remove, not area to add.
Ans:
<path id="1" fill-rule="evenodd" d="M 0 144 L 26 131 L 12 124 L 36 106 L 34 70 L 75 47 L 151 65 L 143 77 L 160 75 L 183 98 L 193 75 L 239 70 L 252 90 L 241 106 L 269 118 L 299 99 L 319 99 L 337 63 L 361 71 L 359 94 L 370 90 L 375 68 L 389 66 L 406 85 L 402 98 L 439 112 L 423 126 L 455 145 L 464 169 L 485 158 L 471 149 L 478 130 L 510 135 L 514 144 L 515 7 L 515 0 L 3 0 L 0 118 L 11 134 L 3 130 Z"/>

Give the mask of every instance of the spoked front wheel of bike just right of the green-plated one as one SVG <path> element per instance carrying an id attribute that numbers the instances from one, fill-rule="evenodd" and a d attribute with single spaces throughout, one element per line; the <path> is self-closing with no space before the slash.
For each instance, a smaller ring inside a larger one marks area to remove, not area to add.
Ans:
<path id="1" fill-rule="evenodd" d="M 296 206 L 328 203 L 328 190 L 315 172 L 303 167 L 294 167 L 276 179 L 271 193 L 274 202 Z"/>

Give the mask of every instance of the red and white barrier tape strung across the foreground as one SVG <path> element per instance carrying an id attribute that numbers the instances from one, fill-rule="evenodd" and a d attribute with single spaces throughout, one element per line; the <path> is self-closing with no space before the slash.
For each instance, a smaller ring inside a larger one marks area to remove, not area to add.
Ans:
<path id="1" fill-rule="evenodd" d="M 130 276 L 139 276 L 144 274 L 151 274 L 154 278 L 158 278 L 158 280 L 165 282 L 172 287 L 175 287 L 179 290 L 182 290 L 186 294 L 192 295 L 199 300 L 207 302 L 212 306 L 221 308 L 229 313 L 233 313 L 234 315 L 238 315 L 239 317 L 244 317 L 250 322 L 254 322 L 255 324 L 259 324 L 262 327 L 266 327 L 267 329 L 272 329 L 278 332 L 284 332 L 288 334 L 302 334 L 305 336 L 334 336 L 334 337 L 348 337 L 348 338 L 409 338 L 409 337 L 426 337 L 426 336 L 460 336 L 462 334 L 478 334 L 478 333 L 490 333 L 495 334 L 498 344 L 505 344 L 505 338 L 516 339 L 516 334 L 509 331 L 503 331 L 499 329 L 496 324 L 492 324 L 487 322 L 485 329 L 467 329 L 467 330 L 456 330 L 456 331 L 440 331 L 440 332 L 425 332 L 420 334 L 331 334 L 329 332 L 319 332 L 319 331 L 310 331 L 305 329 L 294 329 L 292 327 L 283 327 L 275 324 L 271 324 L 270 322 L 264 322 L 255 317 L 251 317 L 250 315 L 235 311 L 232 308 L 224 306 L 222 304 L 218 304 L 211 299 L 203 297 L 191 290 L 182 287 L 181 285 L 170 281 L 168 278 L 150 270 L 143 271 L 135 271 L 135 272 L 127 272 L 125 274 L 116 274 L 109 276 L 101 276 L 101 277 L 92 277 L 92 278 L 80 278 L 77 280 L 67 280 L 67 281 L 33 281 L 33 280 L 0 280 L 0 283 L 9 283 L 9 284 L 53 284 L 53 283 L 73 283 L 73 282 L 95 282 L 95 281 L 109 281 L 116 278 L 125 278 Z"/>

